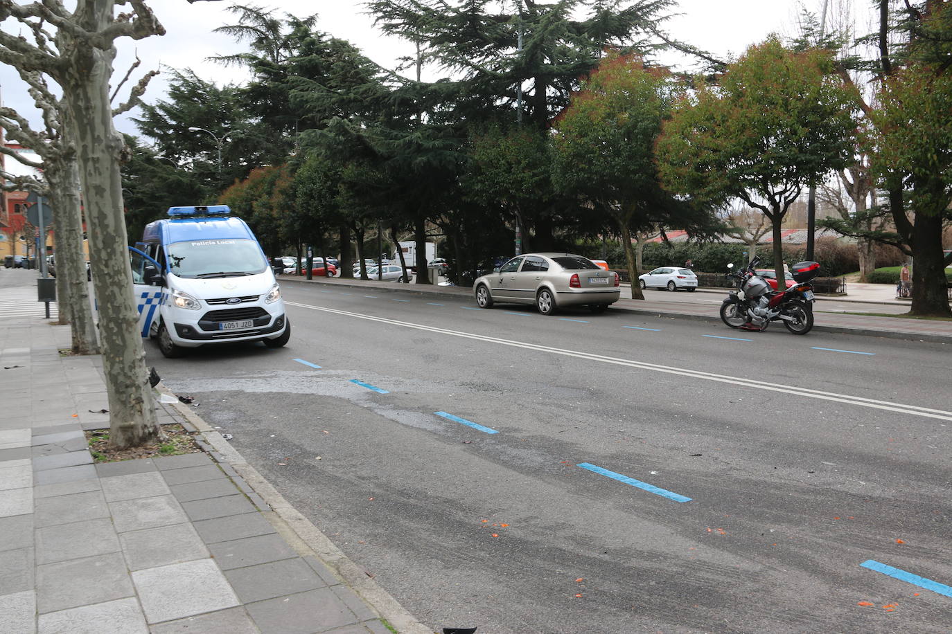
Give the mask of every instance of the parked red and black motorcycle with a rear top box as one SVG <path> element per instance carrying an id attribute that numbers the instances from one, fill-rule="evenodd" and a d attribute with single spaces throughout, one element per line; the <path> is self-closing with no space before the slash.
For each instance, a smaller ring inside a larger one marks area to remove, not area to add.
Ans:
<path id="1" fill-rule="evenodd" d="M 737 273 L 727 272 L 737 290 L 730 291 L 721 304 L 721 320 L 731 328 L 766 330 L 771 321 L 783 321 L 794 335 L 806 335 L 813 328 L 813 285 L 811 279 L 820 273 L 817 262 L 797 262 L 790 267 L 797 283 L 785 291 L 774 291 L 770 284 L 754 271 L 761 263 L 755 256 Z M 733 269 L 733 264 L 727 264 Z"/>

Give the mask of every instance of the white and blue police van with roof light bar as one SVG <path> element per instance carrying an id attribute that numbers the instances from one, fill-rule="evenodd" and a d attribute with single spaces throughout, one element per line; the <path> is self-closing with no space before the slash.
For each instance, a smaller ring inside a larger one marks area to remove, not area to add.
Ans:
<path id="1" fill-rule="evenodd" d="M 288 343 L 281 289 L 245 221 L 228 205 L 169 207 L 129 247 L 142 336 L 169 357 L 187 348 L 263 341 Z"/>

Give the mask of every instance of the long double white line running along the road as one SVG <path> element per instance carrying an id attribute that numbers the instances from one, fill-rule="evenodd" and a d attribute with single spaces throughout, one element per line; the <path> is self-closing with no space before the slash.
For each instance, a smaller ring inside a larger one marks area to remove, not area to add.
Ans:
<path id="1" fill-rule="evenodd" d="M 741 378 L 738 376 L 728 376 L 728 375 L 716 375 L 709 372 L 702 372 L 700 370 L 691 370 L 689 368 L 677 368 L 674 366 L 660 365 L 657 363 L 647 363 L 645 361 L 634 361 L 631 359 L 623 359 L 615 356 L 606 356 L 606 355 L 596 355 L 593 353 L 585 353 L 576 350 L 565 350 L 564 348 L 553 348 L 551 346 L 544 346 L 536 343 L 527 343 L 525 341 L 514 341 L 512 339 L 504 339 L 498 336 L 486 336 L 486 335 L 475 335 L 473 333 L 464 333 L 456 330 L 448 330 L 446 328 L 437 328 L 436 326 L 424 326 L 417 323 L 411 323 L 408 321 L 399 321 L 397 319 L 389 319 L 387 317 L 374 317 L 372 315 L 363 315 L 361 313 L 350 313 L 348 311 L 339 311 L 333 308 L 323 308 L 321 306 L 313 306 L 310 304 L 302 304 L 293 301 L 285 301 L 289 306 L 297 306 L 299 308 L 307 308 L 309 310 L 322 311 L 325 313 L 333 313 L 335 315 L 342 315 L 345 317 L 357 317 L 359 319 L 367 319 L 369 321 L 379 321 L 382 323 L 392 324 L 394 326 L 404 326 L 405 328 L 413 328 L 415 330 L 424 330 L 430 333 L 439 333 L 442 335 L 450 336 L 460 336 L 467 339 L 476 339 L 479 341 L 486 341 L 489 343 L 498 343 L 504 346 L 512 346 L 515 348 L 525 348 L 526 350 L 534 350 L 537 352 L 550 353 L 553 355 L 564 355 L 564 356 L 574 356 L 576 358 L 587 359 L 589 361 L 599 361 L 601 363 L 610 363 L 612 365 L 621 365 L 629 368 L 638 368 L 640 370 L 651 370 L 653 372 L 663 372 L 668 375 L 681 375 L 681 376 L 691 376 L 693 378 L 703 378 L 709 381 L 718 381 L 720 383 L 730 383 L 732 385 L 740 385 L 748 388 L 756 388 L 758 390 L 766 390 L 767 392 L 779 392 L 783 394 L 794 394 L 796 396 L 805 396 L 809 398 L 819 398 L 828 401 L 835 401 L 839 403 L 844 403 L 847 405 L 859 405 L 861 407 L 873 408 L 876 410 L 884 410 L 887 412 L 898 412 L 898 413 L 907 413 L 917 416 L 925 416 L 927 418 L 938 418 L 940 420 L 952 420 L 952 412 L 946 412 L 944 410 L 933 410 L 930 408 L 920 407 L 918 405 L 905 405 L 902 403 L 891 403 L 889 401 L 876 400 L 875 398 L 865 398 L 863 396 L 850 396 L 848 394 L 836 394 L 833 392 L 823 392 L 821 390 L 811 390 L 809 388 L 794 388 L 789 385 L 782 385 L 779 383 L 766 383 L 757 379 L 747 379 Z"/>

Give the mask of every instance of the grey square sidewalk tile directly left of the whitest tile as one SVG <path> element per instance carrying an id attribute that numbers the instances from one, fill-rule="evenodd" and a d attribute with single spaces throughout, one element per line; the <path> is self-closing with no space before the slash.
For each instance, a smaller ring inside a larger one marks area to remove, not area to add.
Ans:
<path id="1" fill-rule="evenodd" d="M 36 604 L 40 614 L 134 594 L 121 552 L 36 567 Z"/>

